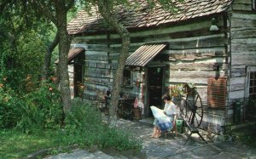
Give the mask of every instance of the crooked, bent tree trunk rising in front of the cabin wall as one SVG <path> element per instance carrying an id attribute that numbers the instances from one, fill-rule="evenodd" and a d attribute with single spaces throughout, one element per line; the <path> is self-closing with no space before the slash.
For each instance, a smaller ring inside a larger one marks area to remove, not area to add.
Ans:
<path id="1" fill-rule="evenodd" d="M 123 78 L 123 71 L 125 68 L 125 60 L 129 55 L 130 47 L 130 33 L 127 31 L 125 26 L 119 23 L 119 20 L 116 16 L 111 13 L 108 8 L 108 0 L 97 1 L 99 11 L 102 14 L 103 18 L 107 20 L 108 24 L 113 26 L 113 28 L 119 33 L 119 36 L 122 39 L 121 52 L 119 54 L 118 69 L 115 76 L 113 76 L 113 89 L 111 91 L 111 103 L 109 107 L 109 126 L 115 127 L 117 120 L 117 108 L 119 103 L 119 91 L 121 86 L 121 81 Z"/>

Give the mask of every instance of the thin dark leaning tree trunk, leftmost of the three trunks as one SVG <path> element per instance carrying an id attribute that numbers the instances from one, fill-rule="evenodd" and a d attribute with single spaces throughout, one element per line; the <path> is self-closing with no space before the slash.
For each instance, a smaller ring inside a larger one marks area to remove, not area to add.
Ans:
<path id="1" fill-rule="evenodd" d="M 56 32 L 54 41 L 49 43 L 47 51 L 44 55 L 44 67 L 43 67 L 42 79 L 48 79 L 49 77 L 49 66 L 50 66 L 51 55 L 59 42 L 60 42 L 60 35 L 58 32 Z"/>

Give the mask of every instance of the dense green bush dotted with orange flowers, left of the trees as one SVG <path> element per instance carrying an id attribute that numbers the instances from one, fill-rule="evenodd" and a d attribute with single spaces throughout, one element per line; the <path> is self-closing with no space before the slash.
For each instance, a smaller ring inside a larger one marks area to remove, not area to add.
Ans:
<path id="1" fill-rule="evenodd" d="M 0 87 L 0 128 L 16 128 L 26 133 L 58 128 L 63 121 L 61 95 L 51 82 L 25 96 Z"/>

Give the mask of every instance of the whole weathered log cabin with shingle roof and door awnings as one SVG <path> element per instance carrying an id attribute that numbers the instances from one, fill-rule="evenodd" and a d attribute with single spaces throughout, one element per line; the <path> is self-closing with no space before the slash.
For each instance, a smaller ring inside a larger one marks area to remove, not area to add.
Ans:
<path id="1" fill-rule="evenodd" d="M 201 128 L 223 133 L 228 122 L 255 120 L 256 112 L 249 111 L 255 103 L 247 101 L 256 99 L 256 0 L 185 0 L 176 5 L 175 13 L 160 5 L 149 9 L 144 1 L 135 9 L 117 9 L 131 33 L 120 97 L 133 103 L 137 98 L 143 117 L 150 117 L 150 105 L 163 108 L 161 96 L 170 86 L 195 83 L 203 107 Z M 120 37 L 96 7 L 90 13 L 79 11 L 67 31 L 75 92 L 76 82 L 83 83 L 83 99 L 100 105 L 112 88 Z"/>

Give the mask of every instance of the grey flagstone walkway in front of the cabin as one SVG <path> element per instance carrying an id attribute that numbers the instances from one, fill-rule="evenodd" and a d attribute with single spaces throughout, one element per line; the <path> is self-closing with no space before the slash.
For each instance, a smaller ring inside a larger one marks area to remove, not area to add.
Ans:
<path id="1" fill-rule="evenodd" d="M 125 128 L 131 133 L 137 134 L 137 137 L 143 141 L 143 150 L 140 155 L 126 153 L 110 153 L 109 151 L 96 150 L 89 152 L 87 150 L 75 149 L 71 153 L 62 153 L 56 156 L 47 156 L 45 159 L 126 159 L 126 158 L 209 158 L 209 159 L 240 159 L 249 158 L 256 159 L 256 149 L 247 147 L 245 145 L 235 145 L 224 141 L 214 141 L 205 144 L 198 138 L 193 136 L 194 139 L 184 145 L 187 137 L 183 134 L 168 134 L 167 137 L 160 137 L 159 139 L 150 138 L 153 126 L 143 122 L 131 122 L 124 119 L 119 119 L 119 128 Z"/>

